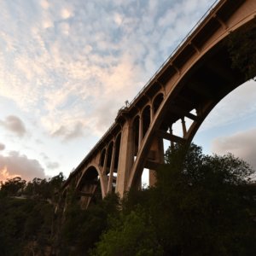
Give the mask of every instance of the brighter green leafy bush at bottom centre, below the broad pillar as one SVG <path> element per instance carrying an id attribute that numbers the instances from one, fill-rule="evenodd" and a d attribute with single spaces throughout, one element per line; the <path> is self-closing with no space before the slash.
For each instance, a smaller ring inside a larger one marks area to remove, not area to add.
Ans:
<path id="1" fill-rule="evenodd" d="M 143 207 L 109 219 L 109 230 L 102 235 L 92 255 L 162 255 L 154 225 Z"/>

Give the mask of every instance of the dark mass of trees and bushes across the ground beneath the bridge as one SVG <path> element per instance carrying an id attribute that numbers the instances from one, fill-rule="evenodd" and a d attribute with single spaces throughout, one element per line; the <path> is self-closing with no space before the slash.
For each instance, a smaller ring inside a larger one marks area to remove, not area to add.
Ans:
<path id="1" fill-rule="evenodd" d="M 131 189 L 121 201 L 96 195 L 86 211 L 70 188 L 57 214 L 49 202 L 57 201 L 61 173 L 26 186 L 15 178 L 0 190 L 1 255 L 43 255 L 50 247 L 61 256 L 254 255 L 252 173 L 232 154 L 204 155 L 192 144 L 167 150 L 154 188 Z"/>

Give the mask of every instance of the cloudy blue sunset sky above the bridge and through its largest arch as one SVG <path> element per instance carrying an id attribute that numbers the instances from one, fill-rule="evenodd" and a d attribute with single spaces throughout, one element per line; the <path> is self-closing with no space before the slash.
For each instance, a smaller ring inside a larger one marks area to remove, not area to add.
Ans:
<path id="1" fill-rule="evenodd" d="M 0 180 L 66 177 L 214 0 L 2 0 Z M 195 143 L 256 169 L 256 84 L 218 104 Z"/>

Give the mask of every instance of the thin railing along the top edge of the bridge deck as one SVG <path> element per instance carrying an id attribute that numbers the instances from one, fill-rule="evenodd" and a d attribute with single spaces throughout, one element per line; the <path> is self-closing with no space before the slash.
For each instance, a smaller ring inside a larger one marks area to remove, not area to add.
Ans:
<path id="1" fill-rule="evenodd" d="M 201 22 L 202 20 L 205 20 L 205 18 L 207 17 L 207 15 L 209 15 L 212 11 L 212 9 L 214 9 L 217 4 L 220 2 L 221 0 L 216 0 L 214 3 L 212 3 L 211 7 L 209 9 L 207 9 L 207 12 L 201 16 L 201 19 L 195 24 L 195 26 L 193 26 L 193 28 L 189 31 L 189 33 L 186 35 L 185 38 L 183 38 L 183 40 L 177 44 L 177 47 L 172 51 L 172 54 L 166 59 L 166 61 L 160 66 L 160 68 L 154 73 L 154 75 L 151 77 L 151 79 L 148 80 L 148 83 L 145 84 L 143 86 L 143 88 L 137 93 L 137 96 L 135 96 L 132 101 L 130 103 L 127 104 L 127 107 L 131 107 L 131 105 L 137 100 L 137 98 L 142 94 L 143 90 L 145 90 L 149 84 L 157 77 L 157 75 L 160 73 L 160 71 L 162 70 L 163 67 L 166 66 L 166 63 L 168 61 L 170 61 L 172 59 L 172 57 L 177 53 L 177 50 L 185 43 L 186 40 L 188 40 L 188 38 L 191 36 L 191 34 L 193 32 L 195 32 L 195 29 L 197 27 L 199 27 L 201 25 Z M 125 107 L 122 107 L 122 108 L 119 108 L 119 111 L 123 110 Z M 89 154 L 87 154 L 85 157 L 84 157 L 84 160 L 82 160 L 82 162 L 79 164 L 79 166 L 81 166 L 84 161 L 86 161 L 87 159 L 90 158 L 90 155 L 94 152 L 94 150 L 99 146 L 100 143 L 102 143 L 102 141 L 104 140 L 104 138 L 108 135 L 108 132 L 111 131 L 113 129 L 113 126 L 115 125 L 115 123 L 113 123 L 109 128 L 108 128 L 108 131 L 106 131 L 104 133 L 104 135 L 100 138 L 100 140 L 96 143 L 96 145 L 90 149 L 90 152 Z M 73 172 L 75 172 L 78 168 L 75 168 L 75 170 Z"/>

